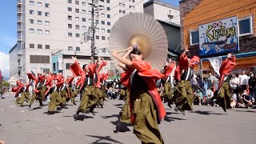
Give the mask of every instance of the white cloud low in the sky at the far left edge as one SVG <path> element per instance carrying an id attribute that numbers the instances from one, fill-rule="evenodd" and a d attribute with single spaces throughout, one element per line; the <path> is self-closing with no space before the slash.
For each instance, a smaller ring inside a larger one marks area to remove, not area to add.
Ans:
<path id="1" fill-rule="evenodd" d="M 9 54 L 4 54 L 0 51 L 0 70 L 2 71 L 2 76 L 9 78 Z"/>

